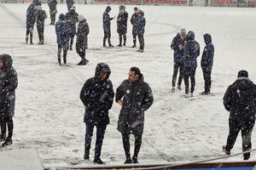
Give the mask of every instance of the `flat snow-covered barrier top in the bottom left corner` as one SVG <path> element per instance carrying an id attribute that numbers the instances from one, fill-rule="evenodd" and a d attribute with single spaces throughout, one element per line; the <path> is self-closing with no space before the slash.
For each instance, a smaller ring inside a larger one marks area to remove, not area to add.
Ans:
<path id="1" fill-rule="evenodd" d="M 44 170 L 38 158 L 37 150 L 9 150 L 0 152 L 1 165 L 3 170 Z"/>

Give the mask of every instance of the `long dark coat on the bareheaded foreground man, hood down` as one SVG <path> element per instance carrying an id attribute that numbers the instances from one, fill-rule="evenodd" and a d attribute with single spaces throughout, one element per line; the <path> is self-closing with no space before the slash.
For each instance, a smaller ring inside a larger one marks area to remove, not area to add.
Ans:
<path id="1" fill-rule="evenodd" d="M 115 101 L 123 99 L 119 114 L 118 130 L 120 133 L 142 135 L 144 129 L 144 111 L 153 104 L 152 90 L 143 81 L 143 74 L 138 82 L 126 79 L 117 88 Z"/>

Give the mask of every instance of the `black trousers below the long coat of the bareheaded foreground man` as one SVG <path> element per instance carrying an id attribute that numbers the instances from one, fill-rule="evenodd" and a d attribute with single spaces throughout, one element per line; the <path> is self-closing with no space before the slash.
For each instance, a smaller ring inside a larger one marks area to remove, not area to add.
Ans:
<path id="1" fill-rule="evenodd" d="M 123 139 L 123 147 L 125 150 L 125 156 L 126 159 L 131 159 L 131 152 L 130 152 L 130 134 L 122 133 L 122 139 Z M 137 159 L 138 153 L 141 149 L 142 145 L 142 135 L 134 135 L 135 138 L 135 146 L 134 146 L 134 153 L 133 157 Z"/>

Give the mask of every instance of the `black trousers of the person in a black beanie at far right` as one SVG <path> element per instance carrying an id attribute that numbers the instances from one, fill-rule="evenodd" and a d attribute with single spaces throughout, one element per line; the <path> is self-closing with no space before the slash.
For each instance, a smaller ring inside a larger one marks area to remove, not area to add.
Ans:
<path id="1" fill-rule="evenodd" d="M 236 143 L 236 138 L 238 133 L 241 131 L 242 139 L 242 151 L 251 150 L 251 136 L 255 123 L 255 118 L 248 117 L 241 119 L 241 117 L 230 117 L 229 127 L 230 132 L 227 139 L 226 149 L 232 150 L 234 144 Z M 250 156 L 250 153 L 244 154 L 243 156 Z"/>

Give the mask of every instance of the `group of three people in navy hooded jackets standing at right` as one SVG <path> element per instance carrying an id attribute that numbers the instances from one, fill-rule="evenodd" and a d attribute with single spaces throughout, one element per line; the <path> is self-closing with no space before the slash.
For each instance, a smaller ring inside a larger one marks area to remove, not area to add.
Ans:
<path id="1" fill-rule="evenodd" d="M 201 94 L 207 95 L 211 93 L 214 45 L 212 44 L 212 36 L 210 34 L 204 34 L 203 38 L 206 46 L 201 57 L 201 68 L 205 80 L 205 90 Z M 177 36 L 173 38 L 171 48 L 174 50 L 172 91 L 175 90 L 177 72 L 179 71 L 177 88 L 181 89 L 181 83 L 182 80 L 184 80 L 185 97 L 193 96 L 195 90 L 197 57 L 200 55 L 200 45 L 195 41 L 194 31 L 186 33 L 185 29 L 181 29 L 181 31 L 177 33 Z M 190 89 L 189 78 L 191 84 Z"/>

